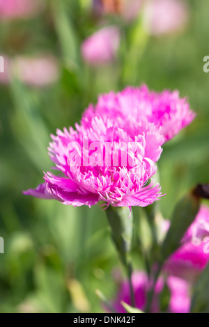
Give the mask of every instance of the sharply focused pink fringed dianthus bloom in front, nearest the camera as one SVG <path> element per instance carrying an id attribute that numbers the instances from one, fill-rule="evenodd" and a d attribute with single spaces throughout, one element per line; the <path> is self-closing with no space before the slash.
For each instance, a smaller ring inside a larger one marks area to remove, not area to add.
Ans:
<path id="1" fill-rule="evenodd" d="M 62 175 L 48 172 L 44 184 L 24 193 L 89 207 L 101 200 L 116 207 L 145 207 L 157 200 L 160 186 L 148 180 L 156 173 L 164 138 L 153 123 L 127 122 L 121 128 L 116 119 L 93 114 L 76 130 L 58 130 L 49 152 Z"/>

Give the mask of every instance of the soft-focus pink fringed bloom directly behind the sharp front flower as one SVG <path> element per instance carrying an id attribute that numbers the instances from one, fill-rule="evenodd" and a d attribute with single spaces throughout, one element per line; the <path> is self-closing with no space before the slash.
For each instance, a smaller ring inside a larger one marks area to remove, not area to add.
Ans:
<path id="1" fill-rule="evenodd" d="M 176 136 L 195 117 L 194 112 L 189 109 L 187 99 L 180 98 L 177 90 L 157 93 L 150 91 L 146 85 L 140 88 L 127 87 L 118 93 L 100 95 L 95 108 L 90 106 L 84 113 L 84 118 L 91 116 L 93 112 L 106 119 L 122 118 L 116 123 L 146 119 L 159 128 L 165 141 Z"/>

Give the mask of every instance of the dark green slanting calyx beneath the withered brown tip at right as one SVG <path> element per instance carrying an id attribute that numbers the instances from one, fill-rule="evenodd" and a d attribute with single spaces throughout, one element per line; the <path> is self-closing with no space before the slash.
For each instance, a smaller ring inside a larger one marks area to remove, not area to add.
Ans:
<path id="1" fill-rule="evenodd" d="M 177 203 L 171 219 L 171 227 L 162 244 L 161 264 L 179 248 L 181 239 L 199 212 L 199 206 L 199 198 L 192 194 Z"/>

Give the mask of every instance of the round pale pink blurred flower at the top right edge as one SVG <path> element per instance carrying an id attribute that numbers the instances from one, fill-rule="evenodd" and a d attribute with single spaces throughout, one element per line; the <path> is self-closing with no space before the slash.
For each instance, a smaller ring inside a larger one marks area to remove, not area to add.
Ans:
<path id="1" fill-rule="evenodd" d="M 144 6 L 144 28 L 153 35 L 180 31 L 188 20 L 188 8 L 182 0 L 150 0 Z"/>

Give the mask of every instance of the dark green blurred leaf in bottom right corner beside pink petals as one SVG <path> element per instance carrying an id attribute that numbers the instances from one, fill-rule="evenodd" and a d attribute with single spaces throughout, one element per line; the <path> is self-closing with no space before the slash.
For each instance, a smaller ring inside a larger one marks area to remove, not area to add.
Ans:
<path id="1" fill-rule="evenodd" d="M 191 312 L 209 313 L 209 264 L 194 287 Z"/>

